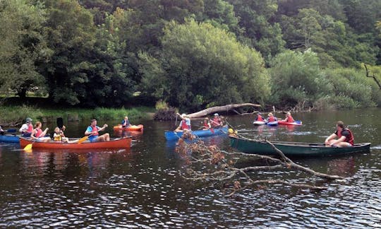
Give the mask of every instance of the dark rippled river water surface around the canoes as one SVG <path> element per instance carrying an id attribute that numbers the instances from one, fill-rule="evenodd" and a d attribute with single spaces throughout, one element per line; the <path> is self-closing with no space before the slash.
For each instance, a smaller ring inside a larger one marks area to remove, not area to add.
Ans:
<path id="1" fill-rule="evenodd" d="M 253 127 L 252 117 L 228 121 L 241 125 L 240 132 L 253 138 L 322 142 L 334 131 L 335 122 L 343 120 L 356 142 L 372 143 L 371 152 L 295 158 L 318 172 L 347 177 L 317 183 L 329 187 L 322 192 L 270 186 L 224 198 L 218 188 L 195 186 L 179 176 L 184 161 L 164 139 L 164 130 L 174 129 L 173 122 L 141 121 L 144 133 L 134 136 L 129 150 L 25 153 L 16 144 L 0 143 L 0 228 L 380 228 L 381 109 L 303 113 L 294 118 L 304 125 Z M 81 137 L 86 125 L 67 124 L 66 135 Z M 54 129 L 54 124 L 48 127 Z M 226 136 L 208 141 L 229 148 Z M 267 177 L 301 180 L 294 171 Z"/>

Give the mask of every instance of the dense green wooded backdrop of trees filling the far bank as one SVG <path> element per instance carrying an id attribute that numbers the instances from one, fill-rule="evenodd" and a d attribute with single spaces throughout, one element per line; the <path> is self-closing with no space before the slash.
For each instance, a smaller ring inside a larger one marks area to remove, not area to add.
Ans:
<path id="1" fill-rule="evenodd" d="M 3 0 L 0 90 L 82 107 L 158 100 L 380 106 L 379 0 Z"/>

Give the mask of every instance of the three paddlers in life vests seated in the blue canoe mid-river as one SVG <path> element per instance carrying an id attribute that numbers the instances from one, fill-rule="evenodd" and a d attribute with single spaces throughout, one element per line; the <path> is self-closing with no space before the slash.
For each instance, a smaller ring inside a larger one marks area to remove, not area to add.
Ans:
<path id="1" fill-rule="evenodd" d="M 187 117 L 186 114 L 179 114 L 177 113 L 181 118 L 181 122 L 179 124 L 179 127 L 177 127 L 174 131 L 179 132 L 179 131 L 191 131 L 191 119 Z M 208 130 L 208 129 L 214 129 L 214 128 L 221 128 L 224 126 L 224 118 L 220 117 L 218 113 L 215 113 L 213 115 L 212 119 L 209 119 L 208 117 L 205 117 L 205 119 L 202 122 L 202 127 L 201 129 L 203 130 Z"/>

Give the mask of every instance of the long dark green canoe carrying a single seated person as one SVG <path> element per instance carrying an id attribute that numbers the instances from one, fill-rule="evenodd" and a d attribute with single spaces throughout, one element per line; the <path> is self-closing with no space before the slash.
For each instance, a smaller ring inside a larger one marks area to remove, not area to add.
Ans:
<path id="1" fill-rule="evenodd" d="M 278 155 L 274 148 L 265 141 L 256 141 L 239 138 L 237 136 L 229 136 L 230 146 L 236 148 L 243 153 L 255 153 L 264 155 Z M 369 152 L 370 143 L 359 143 L 353 147 L 337 148 L 327 147 L 323 143 L 301 143 L 301 142 L 285 142 L 272 141 L 285 155 L 291 156 L 325 156 L 325 155 L 341 155 L 346 153 Z"/>

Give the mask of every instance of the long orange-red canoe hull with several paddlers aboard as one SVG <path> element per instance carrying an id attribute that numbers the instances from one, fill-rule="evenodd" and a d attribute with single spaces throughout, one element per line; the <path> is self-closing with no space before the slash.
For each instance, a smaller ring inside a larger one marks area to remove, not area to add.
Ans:
<path id="1" fill-rule="evenodd" d="M 61 143 L 61 142 L 37 142 L 30 139 L 20 138 L 20 146 L 24 148 L 32 143 L 32 148 L 61 148 L 61 149 L 83 149 L 83 148 L 131 148 L 131 137 L 113 139 L 110 141 L 83 142 L 83 143 Z"/>

